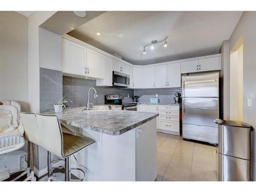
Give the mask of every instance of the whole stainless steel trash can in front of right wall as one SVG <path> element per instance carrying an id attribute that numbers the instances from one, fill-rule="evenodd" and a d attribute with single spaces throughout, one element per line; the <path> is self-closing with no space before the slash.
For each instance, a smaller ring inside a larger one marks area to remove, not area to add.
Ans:
<path id="1" fill-rule="evenodd" d="M 244 122 L 215 119 L 219 124 L 219 181 L 250 181 L 250 134 Z"/>

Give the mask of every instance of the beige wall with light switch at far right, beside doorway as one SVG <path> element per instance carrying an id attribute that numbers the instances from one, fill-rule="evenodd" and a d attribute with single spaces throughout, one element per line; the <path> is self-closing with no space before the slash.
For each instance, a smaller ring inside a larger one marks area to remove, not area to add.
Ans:
<path id="1" fill-rule="evenodd" d="M 232 48 L 238 39 L 243 36 L 243 119 L 244 122 L 256 128 L 256 12 L 245 11 L 230 39 L 229 47 Z M 247 106 L 247 98 L 252 98 L 252 107 Z M 252 176 L 256 180 L 256 153 L 255 139 L 252 134 Z"/>

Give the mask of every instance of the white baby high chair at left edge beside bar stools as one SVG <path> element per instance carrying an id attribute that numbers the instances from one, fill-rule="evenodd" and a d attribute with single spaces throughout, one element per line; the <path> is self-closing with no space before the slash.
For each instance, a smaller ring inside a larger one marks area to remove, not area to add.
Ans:
<path id="1" fill-rule="evenodd" d="M 30 147 L 28 143 L 28 163 L 26 152 L 17 151 L 25 145 L 24 129 L 19 124 L 20 104 L 13 100 L 0 100 L 0 181 L 11 174 L 24 171 L 12 181 L 27 174 L 25 181 L 35 181 L 33 165 L 30 164 Z M 33 150 L 31 152 L 33 154 Z"/>

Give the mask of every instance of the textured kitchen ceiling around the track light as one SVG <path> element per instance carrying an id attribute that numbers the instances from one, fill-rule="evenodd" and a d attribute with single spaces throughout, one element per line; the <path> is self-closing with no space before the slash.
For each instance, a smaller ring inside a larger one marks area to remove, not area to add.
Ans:
<path id="1" fill-rule="evenodd" d="M 242 11 L 108 11 L 68 33 L 135 65 L 219 52 Z M 100 31 L 100 36 L 95 35 Z M 168 37 L 168 46 L 143 46 Z"/>

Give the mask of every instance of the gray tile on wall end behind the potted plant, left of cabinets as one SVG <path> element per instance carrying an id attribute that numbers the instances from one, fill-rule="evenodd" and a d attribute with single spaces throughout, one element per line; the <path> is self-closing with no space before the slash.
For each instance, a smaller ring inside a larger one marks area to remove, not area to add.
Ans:
<path id="1" fill-rule="evenodd" d="M 53 110 L 62 97 L 62 72 L 40 68 L 40 112 Z M 55 99 L 53 99 L 55 98 Z"/>

